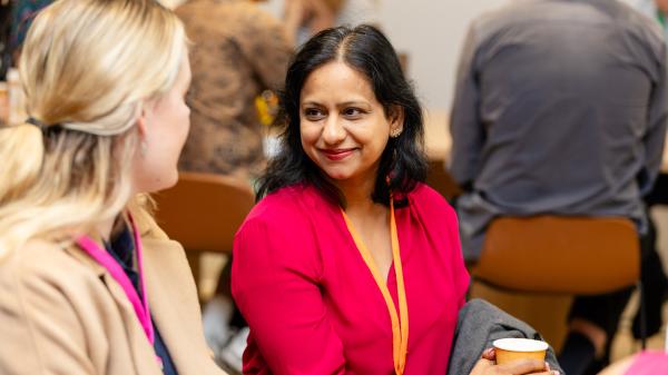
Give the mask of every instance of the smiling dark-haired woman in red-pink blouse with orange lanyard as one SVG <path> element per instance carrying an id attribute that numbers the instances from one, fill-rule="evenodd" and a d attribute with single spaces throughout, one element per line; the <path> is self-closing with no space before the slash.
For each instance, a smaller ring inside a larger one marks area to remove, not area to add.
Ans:
<path id="1" fill-rule="evenodd" d="M 422 111 L 392 45 L 322 31 L 281 106 L 282 151 L 234 246 L 244 373 L 445 374 L 469 275 L 454 211 L 422 182 Z"/>

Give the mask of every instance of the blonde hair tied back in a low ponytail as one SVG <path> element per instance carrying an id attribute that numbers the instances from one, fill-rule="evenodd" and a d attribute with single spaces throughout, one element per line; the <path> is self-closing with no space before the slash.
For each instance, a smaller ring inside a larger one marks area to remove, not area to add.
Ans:
<path id="1" fill-rule="evenodd" d="M 36 18 L 19 65 L 29 116 L 0 130 L 0 259 L 32 238 L 71 240 L 131 197 L 135 127 L 186 53 L 155 0 L 59 0 Z"/>

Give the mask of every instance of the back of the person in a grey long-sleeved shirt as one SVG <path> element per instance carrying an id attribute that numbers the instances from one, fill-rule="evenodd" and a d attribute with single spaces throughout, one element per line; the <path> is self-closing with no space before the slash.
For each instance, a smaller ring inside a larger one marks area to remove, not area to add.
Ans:
<path id="1" fill-rule="evenodd" d="M 660 30 L 610 0 L 518 1 L 471 29 L 458 78 L 451 171 L 475 257 L 497 215 L 625 216 L 666 131 Z"/>

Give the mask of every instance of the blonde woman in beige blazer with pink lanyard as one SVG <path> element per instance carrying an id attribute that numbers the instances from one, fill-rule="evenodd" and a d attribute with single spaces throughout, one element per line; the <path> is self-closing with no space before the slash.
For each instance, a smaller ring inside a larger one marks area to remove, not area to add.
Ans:
<path id="1" fill-rule="evenodd" d="M 20 61 L 29 119 L 0 130 L 0 374 L 222 374 L 181 247 L 143 194 L 177 180 L 190 80 L 153 0 L 60 0 Z"/>

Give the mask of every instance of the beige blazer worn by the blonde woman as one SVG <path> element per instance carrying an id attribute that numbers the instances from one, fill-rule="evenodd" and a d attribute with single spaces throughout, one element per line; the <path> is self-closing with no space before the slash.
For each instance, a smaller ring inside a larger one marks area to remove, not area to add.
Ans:
<path id="1" fill-rule="evenodd" d="M 225 374 L 204 341 L 181 246 L 139 224 L 154 322 L 179 375 Z M 121 287 L 76 246 L 31 241 L 0 260 L 0 374 L 161 375 Z"/>

